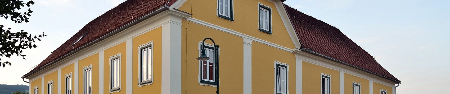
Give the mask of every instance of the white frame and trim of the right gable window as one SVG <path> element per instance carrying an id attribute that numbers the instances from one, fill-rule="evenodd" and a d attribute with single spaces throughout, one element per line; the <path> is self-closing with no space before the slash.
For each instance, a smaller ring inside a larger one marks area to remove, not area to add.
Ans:
<path id="1" fill-rule="evenodd" d="M 261 13 L 262 10 L 262 13 Z M 264 14 L 264 11 L 267 12 L 267 14 Z M 261 15 L 262 14 L 262 15 Z M 261 18 L 262 16 L 262 18 Z M 264 18 L 267 18 L 265 21 Z M 262 22 L 261 22 L 262 20 Z M 261 27 L 262 23 L 262 27 Z M 258 3 L 258 29 L 261 32 L 272 34 L 272 8 L 269 6 L 263 5 L 261 3 Z"/>

